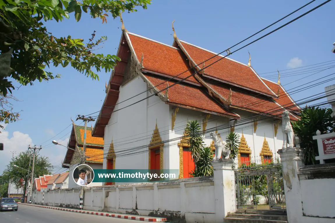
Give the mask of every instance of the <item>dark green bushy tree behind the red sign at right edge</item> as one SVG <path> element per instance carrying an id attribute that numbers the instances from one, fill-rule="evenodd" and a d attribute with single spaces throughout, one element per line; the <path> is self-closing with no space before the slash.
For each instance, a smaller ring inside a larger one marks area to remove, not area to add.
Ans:
<path id="1" fill-rule="evenodd" d="M 332 109 L 310 107 L 301 111 L 300 120 L 292 121 L 294 134 L 300 138 L 300 147 L 305 149 L 305 165 L 316 164 L 315 156 L 319 155 L 317 141 L 313 139 L 316 131 L 321 134 L 333 132 L 335 118 Z"/>

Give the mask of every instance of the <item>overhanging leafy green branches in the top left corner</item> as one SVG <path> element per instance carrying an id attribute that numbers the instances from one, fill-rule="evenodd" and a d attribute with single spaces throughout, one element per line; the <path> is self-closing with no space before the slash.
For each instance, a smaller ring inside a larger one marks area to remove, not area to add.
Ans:
<path id="1" fill-rule="evenodd" d="M 107 23 L 108 14 L 115 19 L 122 12 L 147 8 L 150 0 L 0 0 L 0 93 L 12 93 L 14 86 L 8 77 L 21 85 L 35 80 L 59 78 L 45 69 L 71 66 L 78 72 L 98 79 L 93 68 L 110 72 L 120 61 L 116 55 L 95 54 L 93 51 L 106 41 L 103 36 L 94 41 L 95 31 L 85 44 L 82 37 L 56 37 L 47 31 L 46 21 L 61 22 L 74 14 L 79 21 L 82 13 L 101 18 Z"/>

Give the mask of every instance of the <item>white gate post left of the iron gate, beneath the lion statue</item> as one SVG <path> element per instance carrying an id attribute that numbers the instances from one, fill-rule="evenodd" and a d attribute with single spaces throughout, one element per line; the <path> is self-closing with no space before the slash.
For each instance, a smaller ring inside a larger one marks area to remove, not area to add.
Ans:
<path id="1" fill-rule="evenodd" d="M 232 159 L 212 161 L 214 169 L 215 222 L 222 223 L 228 213 L 236 212 L 235 174 Z"/>

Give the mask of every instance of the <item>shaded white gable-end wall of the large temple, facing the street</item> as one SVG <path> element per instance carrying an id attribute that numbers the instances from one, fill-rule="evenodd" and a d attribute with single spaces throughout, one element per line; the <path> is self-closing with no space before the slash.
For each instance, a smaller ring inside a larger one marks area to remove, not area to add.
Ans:
<path id="1" fill-rule="evenodd" d="M 145 90 L 147 90 L 146 83 L 139 77 L 135 78 L 125 86 L 120 87 L 117 103 Z M 137 102 L 150 94 L 146 92 L 131 100 L 122 102 L 115 106 L 115 110 Z M 116 169 L 148 169 L 148 148 L 141 146 L 150 143 L 156 120 L 160 131 L 164 131 L 165 128 L 169 129 L 169 123 L 171 123 L 169 106 L 163 103 L 158 96 L 150 97 L 147 100 L 112 113 L 111 119 L 105 127 L 103 168 L 107 168 L 106 156 L 113 139 L 114 150 L 119 155 L 116 158 Z M 162 140 L 167 140 L 169 135 L 162 133 L 161 138 Z M 125 156 L 136 152 L 138 152 L 136 155 Z M 169 168 L 168 149 L 166 149 L 166 152 L 164 151 L 163 165 L 164 169 Z"/>

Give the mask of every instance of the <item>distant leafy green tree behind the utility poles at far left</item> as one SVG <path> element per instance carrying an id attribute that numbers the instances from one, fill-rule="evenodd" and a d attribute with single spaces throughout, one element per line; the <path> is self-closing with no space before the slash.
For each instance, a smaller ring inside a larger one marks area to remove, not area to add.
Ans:
<path id="1" fill-rule="evenodd" d="M 7 165 L 6 170 L 3 172 L 3 177 L 6 179 L 6 182 L 15 185 L 16 189 L 22 187 L 22 184 L 20 183 L 21 179 L 24 179 L 25 182 L 31 182 L 32 159 L 32 154 L 28 151 L 20 152 L 17 156 L 13 157 Z M 20 168 L 17 168 L 14 165 L 19 166 Z M 50 175 L 52 169 L 52 165 L 47 156 L 35 155 L 34 177 L 38 178 L 44 174 Z M 29 170 L 29 173 L 27 170 Z M 25 193 L 26 183 L 23 187 Z"/>

